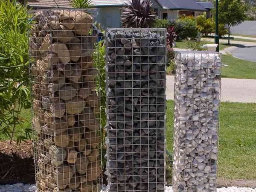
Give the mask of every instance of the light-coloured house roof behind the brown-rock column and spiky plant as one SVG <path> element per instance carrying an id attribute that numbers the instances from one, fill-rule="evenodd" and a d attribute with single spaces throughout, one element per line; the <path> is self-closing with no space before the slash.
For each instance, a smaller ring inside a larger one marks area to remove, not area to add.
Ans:
<path id="1" fill-rule="evenodd" d="M 59 8 L 71 8 L 69 0 L 55 0 Z M 57 7 L 54 0 L 37 0 L 36 2 L 28 3 L 31 7 Z M 130 0 L 92 0 L 92 4 L 96 7 L 103 6 L 126 6 Z M 152 0 L 153 7 L 159 6 L 158 0 Z"/>

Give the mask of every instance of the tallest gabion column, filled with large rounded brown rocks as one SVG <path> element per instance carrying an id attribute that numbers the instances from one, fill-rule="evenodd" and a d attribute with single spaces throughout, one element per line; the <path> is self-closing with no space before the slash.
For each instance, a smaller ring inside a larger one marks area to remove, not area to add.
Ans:
<path id="1" fill-rule="evenodd" d="M 85 10 L 32 12 L 29 33 L 39 192 L 101 190 L 96 30 Z"/>

